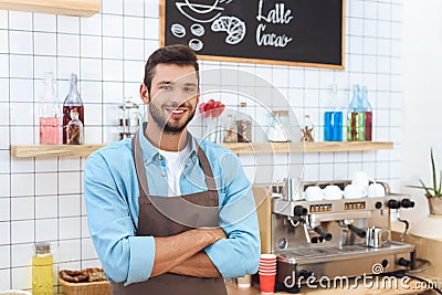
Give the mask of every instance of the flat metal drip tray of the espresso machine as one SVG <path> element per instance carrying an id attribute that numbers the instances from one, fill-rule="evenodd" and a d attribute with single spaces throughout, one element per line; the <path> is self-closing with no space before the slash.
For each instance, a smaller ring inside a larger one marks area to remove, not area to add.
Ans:
<path id="1" fill-rule="evenodd" d="M 278 261 L 293 263 L 318 263 L 325 261 L 339 261 L 356 257 L 376 256 L 385 254 L 409 253 L 414 250 L 414 245 L 390 242 L 382 247 L 367 247 L 364 244 L 332 246 L 332 247 L 304 247 L 275 253 Z"/>

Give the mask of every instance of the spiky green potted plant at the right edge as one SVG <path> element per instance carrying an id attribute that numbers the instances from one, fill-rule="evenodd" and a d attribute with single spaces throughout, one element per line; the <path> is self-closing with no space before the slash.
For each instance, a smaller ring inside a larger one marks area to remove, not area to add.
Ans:
<path id="1" fill-rule="evenodd" d="M 431 149 L 431 169 L 432 169 L 432 178 L 433 178 L 433 186 L 427 187 L 423 183 L 422 179 L 419 179 L 421 186 L 408 186 L 410 188 L 417 189 L 424 189 L 425 197 L 429 201 L 430 214 L 433 215 L 442 215 L 442 171 L 439 171 L 439 179 L 438 173 L 435 170 L 434 157 L 433 157 L 433 149 Z"/>

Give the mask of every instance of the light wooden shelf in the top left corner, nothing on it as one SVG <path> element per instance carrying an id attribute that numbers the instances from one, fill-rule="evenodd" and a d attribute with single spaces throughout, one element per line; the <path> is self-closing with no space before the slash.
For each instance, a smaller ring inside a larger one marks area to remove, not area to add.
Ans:
<path id="1" fill-rule="evenodd" d="M 88 18 L 102 10 L 102 0 L 0 0 L 0 9 Z"/>

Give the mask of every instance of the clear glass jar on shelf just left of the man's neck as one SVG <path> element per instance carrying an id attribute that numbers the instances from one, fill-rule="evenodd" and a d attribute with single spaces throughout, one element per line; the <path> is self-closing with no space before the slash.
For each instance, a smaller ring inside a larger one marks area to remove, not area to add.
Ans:
<path id="1" fill-rule="evenodd" d="M 119 117 L 119 139 L 131 138 L 137 133 L 141 124 L 141 113 L 139 106 L 131 102 L 131 97 L 127 97 L 123 105 L 118 106 L 120 109 Z"/>

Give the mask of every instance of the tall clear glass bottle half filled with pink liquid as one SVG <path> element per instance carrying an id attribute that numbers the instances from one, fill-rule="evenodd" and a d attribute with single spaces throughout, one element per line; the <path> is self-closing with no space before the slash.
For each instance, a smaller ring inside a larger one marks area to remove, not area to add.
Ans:
<path id="1" fill-rule="evenodd" d="M 41 145 L 60 145 L 62 126 L 60 105 L 54 91 L 54 74 L 44 73 L 43 91 L 39 104 L 39 125 Z"/>

